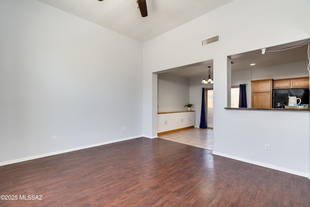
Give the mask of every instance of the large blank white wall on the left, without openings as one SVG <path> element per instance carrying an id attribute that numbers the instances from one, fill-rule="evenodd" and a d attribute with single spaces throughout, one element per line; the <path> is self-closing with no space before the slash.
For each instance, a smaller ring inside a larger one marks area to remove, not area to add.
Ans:
<path id="1" fill-rule="evenodd" d="M 36 0 L 0 1 L 0 41 L 0 165 L 142 135 L 140 42 Z"/>

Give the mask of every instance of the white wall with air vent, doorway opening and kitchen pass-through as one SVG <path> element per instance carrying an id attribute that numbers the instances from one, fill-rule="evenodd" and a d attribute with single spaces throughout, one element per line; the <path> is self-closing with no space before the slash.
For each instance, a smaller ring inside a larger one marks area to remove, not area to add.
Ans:
<path id="1" fill-rule="evenodd" d="M 213 59 L 213 76 L 217 80 L 213 85 L 213 153 L 308 176 L 309 111 L 224 108 L 230 88 L 227 56 L 310 38 L 310 27 L 306 26 L 309 25 L 309 11 L 309 0 L 234 0 L 145 42 L 143 133 L 153 137 L 156 131 L 157 106 L 152 93 L 157 92 L 152 85 L 152 73 Z M 200 46 L 202 39 L 217 34 L 219 43 Z M 296 120 L 302 123 L 299 125 Z M 290 129 L 283 130 L 283 126 L 290 126 Z M 265 143 L 270 144 L 270 151 L 264 150 Z"/>

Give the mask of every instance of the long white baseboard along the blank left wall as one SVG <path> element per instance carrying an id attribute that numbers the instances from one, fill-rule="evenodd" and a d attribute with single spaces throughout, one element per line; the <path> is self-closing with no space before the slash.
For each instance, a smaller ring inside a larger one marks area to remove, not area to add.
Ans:
<path id="1" fill-rule="evenodd" d="M 28 161 L 31 159 L 44 158 L 44 157 L 48 157 L 48 156 L 52 156 L 52 155 L 58 155 L 58 154 L 66 153 L 66 152 L 77 151 L 80 149 L 86 149 L 86 148 L 91 148 L 91 147 L 95 147 L 95 146 L 101 146 L 101 145 L 105 145 L 105 144 L 109 144 L 109 143 L 117 143 L 117 142 L 122 142 L 125 140 L 132 140 L 132 139 L 136 139 L 136 138 L 140 138 L 140 137 L 143 137 L 143 135 L 134 136 L 134 137 L 127 137 L 127 138 L 119 139 L 119 140 L 112 140 L 112 141 L 108 141 L 108 142 L 104 142 L 104 143 L 96 143 L 96 144 L 91 144 L 91 145 L 86 145 L 86 146 L 80 146 L 80 147 L 76 147 L 76 148 L 65 149 L 65 150 L 56 151 L 56 152 L 50 152 L 47 154 L 36 155 L 36 156 L 27 157 L 27 158 L 14 159 L 14 160 L 10 160 L 10 161 L 0 162 L 0 166 L 14 164 L 17 162 Z"/>

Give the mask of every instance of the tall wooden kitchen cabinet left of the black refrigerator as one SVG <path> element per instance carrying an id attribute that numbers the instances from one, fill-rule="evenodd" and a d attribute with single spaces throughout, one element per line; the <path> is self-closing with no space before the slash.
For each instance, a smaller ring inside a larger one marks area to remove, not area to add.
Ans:
<path id="1" fill-rule="evenodd" d="M 251 108 L 272 108 L 273 79 L 251 80 Z"/>

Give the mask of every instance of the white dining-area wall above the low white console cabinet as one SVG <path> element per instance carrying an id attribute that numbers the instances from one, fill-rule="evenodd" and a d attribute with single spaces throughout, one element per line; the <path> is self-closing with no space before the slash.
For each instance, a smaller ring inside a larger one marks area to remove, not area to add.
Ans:
<path id="1" fill-rule="evenodd" d="M 158 111 L 184 111 L 189 103 L 189 79 L 168 73 L 157 75 Z"/>

